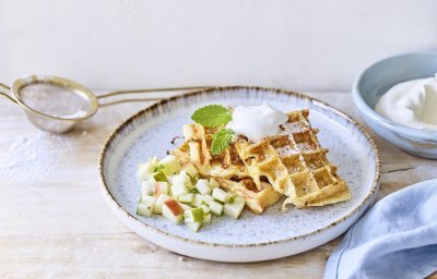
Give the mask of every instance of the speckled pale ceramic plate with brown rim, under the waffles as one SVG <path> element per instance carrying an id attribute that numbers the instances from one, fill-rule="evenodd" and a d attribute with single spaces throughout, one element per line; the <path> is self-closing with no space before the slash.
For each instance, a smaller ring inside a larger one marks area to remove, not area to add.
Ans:
<path id="1" fill-rule="evenodd" d="M 192 112 L 202 106 L 260 105 L 282 111 L 308 108 L 319 141 L 330 149 L 352 199 L 321 208 L 280 210 L 281 203 L 262 215 L 245 210 L 239 220 L 213 218 L 199 233 L 162 218 L 135 215 L 141 183 L 137 165 L 151 156 L 163 157 L 175 147 Z M 307 96 L 259 87 L 224 87 L 174 97 L 149 107 L 122 123 L 107 141 L 101 157 L 104 196 L 120 220 L 144 239 L 187 256 L 255 262 L 297 254 L 343 233 L 373 204 L 378 192 L 380 166 L 375 144 L 349 116 Z"/>

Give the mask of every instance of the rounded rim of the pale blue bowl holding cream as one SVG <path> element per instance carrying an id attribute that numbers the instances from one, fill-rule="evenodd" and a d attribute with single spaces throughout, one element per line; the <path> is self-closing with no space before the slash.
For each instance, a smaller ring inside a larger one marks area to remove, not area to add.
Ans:
<path id="1" fill-rule="evenodd" d="M 388 129 L 390 131 L 393 131 L 399 134 L 405 134 L 405 135 L 411 135 L 413 137 L 423 137 L 424 140 L 433 141 L 432 138 L 437 138 L 437 131 L 430 131 L 430 130 L 420 130 L 415 128 L 410 128 L 397 122 L 393 122 L 379 113 L 375 111 L 374 108 L 370 108 L 369 105 L 364 100 L 363 98 L 363 93 L 361 92 L 359 87 L 363 82 L 363 77 L 371 71 L 374 68 L 381 65 L 383 63 L 387 63 L 388 61 L 393 61 L 398 59 L 403 59 L 405 57 L 414 57 L 414 56 L 435 56 L 437 58 L 437 51 L 417 51 L 417 52 L 405 52 L 397 56 L 391 56 L 383 58 L 381 60 L 378 60 L 367 66 L 359 75 L 356 77 L 353 86 L 352 86 L 352 97 L 354 99 L 355 106 L 358 108 L 358 110 L 369 120 L 373 122 L 376 122 L 380 126 Z M 436 69 L 437 73 L 437 69 Z"/>

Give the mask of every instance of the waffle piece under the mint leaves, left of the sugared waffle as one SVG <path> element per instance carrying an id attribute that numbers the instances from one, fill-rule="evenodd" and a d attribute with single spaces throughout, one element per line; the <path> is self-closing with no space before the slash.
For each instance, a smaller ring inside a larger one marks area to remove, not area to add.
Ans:
<path id="1" fill-rule="evenodd" d="M 184 137 L 189 147 L 190 161 L 205 177 L 247 178 L 246 167 L 234 145 L 220 155 L 212 155 L 211 143 L 216 131 L 200 124 L 184 125 Z"/>

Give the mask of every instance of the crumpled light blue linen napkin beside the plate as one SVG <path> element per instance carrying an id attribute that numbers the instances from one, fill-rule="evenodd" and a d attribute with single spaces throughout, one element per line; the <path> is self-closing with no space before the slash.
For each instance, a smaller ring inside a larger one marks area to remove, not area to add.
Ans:
<path id="1" fill-rule="evenodd" d="M 424 278 L 437 270 L 437 180 L 379 201 L 328 259 L 324 279 Z"/>

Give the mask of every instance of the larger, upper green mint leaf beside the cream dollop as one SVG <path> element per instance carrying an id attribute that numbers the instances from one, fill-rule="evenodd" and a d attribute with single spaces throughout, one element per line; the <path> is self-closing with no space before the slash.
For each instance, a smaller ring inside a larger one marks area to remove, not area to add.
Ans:
<path id="1" fill-rule="evenodd" d="M 210 105 L 196 110 L 191 119 L 203 126 L 216 128 L 229 122 L 232 112 L 221 105 Z"/>

